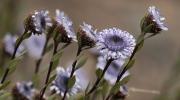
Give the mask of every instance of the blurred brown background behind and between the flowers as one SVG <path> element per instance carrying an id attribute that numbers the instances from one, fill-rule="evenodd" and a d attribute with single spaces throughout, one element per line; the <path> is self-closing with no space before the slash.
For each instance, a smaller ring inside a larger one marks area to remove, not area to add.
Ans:
<path id="1" fill-rule="evenodd" d="M 23 32 L 24 18 L 34 10 L 46 9 L 54 15 L 55 10 L 60 9 L 73 20 L 75 30 L 85 21 L 98 30 L 118 27 L 137 37 L 140 34 L 140 20 L 152 5 L 166 17 L 169 30 L 145 42 L 136 56 L 135 66 L 130 70 L 132 77 L 128 86 L 155 90 L 160 94 L 129 91 L 127 100 L 180 100 L 179 0 L 0 0 L 0 48 L 2 50 L 2 39 L 7 32 Z M 59 65 L 70 65 L 76 48 L 76 44 L 66 48 Z M 96 65 L 96 55 L 89 51 L 84 53 L 89 58 L 84 66 L 84 69 L 89 69 L 85 73 L 87 80 L 94 79 L 95 73 L 92 72 Z M 49 59 L 50 54 L 43 60 L 42 69 L 48 66 Z M 34 66 L 35 60 L 25 57 L 11 78 L 14 82 L 31 80 Z"/>

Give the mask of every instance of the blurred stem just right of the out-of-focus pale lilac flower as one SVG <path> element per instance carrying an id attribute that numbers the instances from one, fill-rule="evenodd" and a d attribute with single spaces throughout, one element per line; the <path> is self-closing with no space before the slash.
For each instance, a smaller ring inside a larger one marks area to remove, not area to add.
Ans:
<path id="1" fill-rule="evenodd" d="M 41 54 L 41 58 L 39 60 L 37 60 L 37 62 L 36 62 L 35 74 L 37 74 L 39 72 L 39 67 L 40 67 L 40 64 L 42 62 L 43 56 L 46 53 L 46 48 L 47 48 L 49 40 L 50 40 L 50 36 L 47 36 L 46 37 L 46 42 L 44 44 L 43 51 L 42 51 L 42 54 Z"/>

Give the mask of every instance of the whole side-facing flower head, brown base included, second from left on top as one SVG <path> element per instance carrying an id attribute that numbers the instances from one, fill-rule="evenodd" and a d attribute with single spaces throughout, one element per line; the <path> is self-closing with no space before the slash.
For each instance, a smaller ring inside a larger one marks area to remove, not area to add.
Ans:
<path id="1" fill-rule="evenodd" d="M 56 10 L 56 28 L 54 30 L 54 39 L 58 42 L 70 43 L 76 39 L 75 32 L 73 30 L 73 23 L 69 17 L 59 10 Z"/>

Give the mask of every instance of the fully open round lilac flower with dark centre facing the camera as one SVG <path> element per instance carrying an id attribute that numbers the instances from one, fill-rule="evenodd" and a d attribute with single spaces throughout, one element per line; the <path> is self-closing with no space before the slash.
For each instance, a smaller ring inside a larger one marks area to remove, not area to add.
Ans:
<path id="1" fill-rule="evenodd" d="M 97 34 L 97 47 L 107 59 L 130 57 L 135 45 L 135 38 L 118 28 L 104 29 Z"/>

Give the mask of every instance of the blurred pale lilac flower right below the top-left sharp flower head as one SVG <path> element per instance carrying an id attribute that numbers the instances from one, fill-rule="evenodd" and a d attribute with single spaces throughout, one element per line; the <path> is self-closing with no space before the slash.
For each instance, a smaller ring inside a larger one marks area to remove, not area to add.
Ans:
<path id="1" fill-rule="evenodd" d="M 45 42 L 46 42 L 45 34 L 39 36 L 32 35 L 30 38 L 26 39 L 25 45 L 27 47 L 29 55 L 35 59 L 40 59 Z"/>

